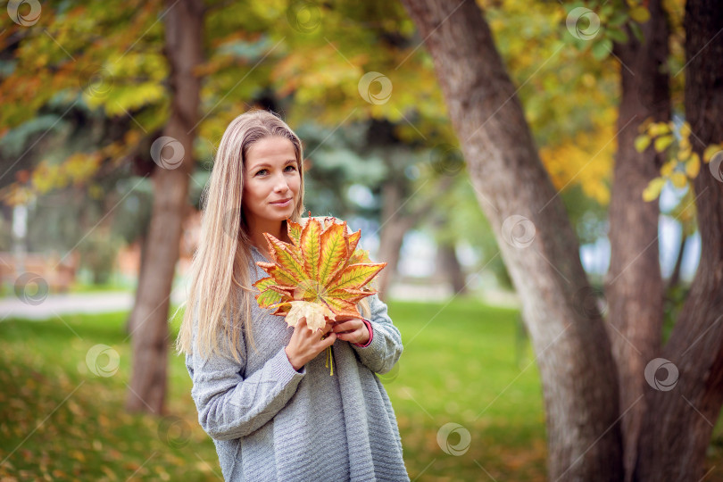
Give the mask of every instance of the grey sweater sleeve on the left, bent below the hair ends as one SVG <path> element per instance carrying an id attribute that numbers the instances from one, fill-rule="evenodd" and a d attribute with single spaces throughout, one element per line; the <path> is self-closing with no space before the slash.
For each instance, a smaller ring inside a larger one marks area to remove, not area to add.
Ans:
<path id="1" fill-rule="evenodd" d="M 306 374 L 305 368 L 294 370 L 282 348 L 261 369 L 243 378 L 246 356 L 243 339 L 239 344 L 241 362 L 231 356 L 186 355 L 198 422 L 217 440 L 246 436 L 261 428 L 284 408 Z"/>

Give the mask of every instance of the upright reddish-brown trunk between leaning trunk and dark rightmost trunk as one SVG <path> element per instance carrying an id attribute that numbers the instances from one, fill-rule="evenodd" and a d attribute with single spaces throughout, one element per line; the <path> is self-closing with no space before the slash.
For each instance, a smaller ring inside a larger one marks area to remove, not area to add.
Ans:
<path id="1" fill-rule="evenodd" d="M 670 119 L 669 28 L 660 0 L 648 4 L 651 17 L 641 25 L 644 42 L 628 31 L 616 44 L 622 96 L 618 152 L 610 205 L 611 267 L 606 287 L 608 334 L 617 362 L 626 480 L 636 461 L 640 420 L 645 411 L 645 365 L 661 348 L 663 281 L 658 250 L 658 201 L 646 203 L 643 190 L 660 175 L 665 154 L 649 146 L 638 153 L 635 139 L 644 120 Z"/>

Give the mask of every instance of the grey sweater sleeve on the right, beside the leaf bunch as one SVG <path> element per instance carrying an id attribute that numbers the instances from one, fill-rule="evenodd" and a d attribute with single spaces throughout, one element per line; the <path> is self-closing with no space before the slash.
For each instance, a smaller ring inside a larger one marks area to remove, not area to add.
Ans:
<path id="1" fill-rule="evenodd" d="M 352 345 L 364 365 L 376 373 L 386 373 L 395 366 L 403 352 L 402 335 L 386 313 L 386 303 L 371 295 L 370 323 L 373 329 L 369 345 Z"/>

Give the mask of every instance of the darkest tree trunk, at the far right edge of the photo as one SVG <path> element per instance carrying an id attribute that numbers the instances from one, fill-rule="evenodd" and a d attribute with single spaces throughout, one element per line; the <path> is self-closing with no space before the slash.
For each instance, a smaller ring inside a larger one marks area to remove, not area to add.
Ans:
<path id="1" fill-rule="evenodd" d="M 686 120 L 702 157 L 706 145 L 723 141 L 723 9 L 716 0 L 688 0 L 684 25 Z M 723 183 L 709 168 L 702 164 L 693 183 L 701 262 L 661 353 L 679 378 L 669 390 L 646 389 L 638 480 L 700 480 L 723 404 Z"/>

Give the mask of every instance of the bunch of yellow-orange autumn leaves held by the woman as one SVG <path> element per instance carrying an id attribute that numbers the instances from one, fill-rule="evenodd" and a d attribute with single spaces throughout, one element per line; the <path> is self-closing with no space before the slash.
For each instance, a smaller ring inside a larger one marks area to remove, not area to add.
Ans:
<path id="1" fill-rule="evenodd" d="M 357 249 L 362 230 L 347 234 L 345 221 L 327 217 L 322 225 L 310 212 L 303 227 L 287 220 L 287 231 L 291 243 L 263 233 L 273 262 L 256 262 L 269 274 L 253 283 L 259 306 L 275 308 L 289 326 L 305 316 L 312 329 L 323 328 L 325 316 L 362 318 L 356 303 L 377 293 L 367 285 L 386 266 Z"/>

